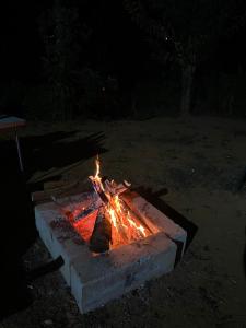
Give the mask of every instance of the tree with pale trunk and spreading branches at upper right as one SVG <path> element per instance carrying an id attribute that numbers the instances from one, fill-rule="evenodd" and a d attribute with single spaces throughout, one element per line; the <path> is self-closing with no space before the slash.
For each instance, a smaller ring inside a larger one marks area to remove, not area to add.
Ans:
<path id="1" fill-rule="evenodd" d="M 151 42 L 162 45 L 163 61 L 178 65 L 180 114 L 190 113 L 194 77 L 221 37 L 232 36 L 246 20 L 244 0 L 122 0 L 125 9 Z M 167 52 L 166 45 L 171 50 Z"/>

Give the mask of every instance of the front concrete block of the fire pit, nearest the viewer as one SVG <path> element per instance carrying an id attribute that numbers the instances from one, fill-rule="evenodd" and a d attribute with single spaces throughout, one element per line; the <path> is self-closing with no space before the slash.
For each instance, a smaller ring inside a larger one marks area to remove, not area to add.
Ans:
<path id="1" fill-rule="evenodd" d="M 81 313 L 105 305 L 173 270 L 177 246 L 159 233 L 71 265 L 71 291 Z"/>

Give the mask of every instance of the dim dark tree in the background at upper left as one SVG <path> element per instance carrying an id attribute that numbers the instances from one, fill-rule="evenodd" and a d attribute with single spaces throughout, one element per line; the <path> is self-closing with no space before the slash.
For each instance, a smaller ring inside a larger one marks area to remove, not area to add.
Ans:
<path id="1" fill-rule="evenodd" d="M 43 62 L 52 118 L 71 118 L 81 79 L 82 45 L 90 32 L 80 24 L 79 7 L 62 0 L 55 0 L 54 5 L 43 13 L 39 32 L 45 48 Z"/>

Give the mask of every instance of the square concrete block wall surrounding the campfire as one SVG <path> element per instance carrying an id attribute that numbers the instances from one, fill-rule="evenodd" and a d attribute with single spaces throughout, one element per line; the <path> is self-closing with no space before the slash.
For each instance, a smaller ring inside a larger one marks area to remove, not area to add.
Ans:
<path id="1" fill-rule="evenodd" d="M 145 281 L 172 271 L 184 253 L 187 234 L 180 226 L 138 194 L 127 191 L 121 197 L 156 233 L 97 255 L 90 251 L 56 203 L 35 207 L 39 235 L 52 258 L 63 258 L 60 270 L 81 313 L 103 306 Z M 60 201 L 79 203 L 83 195 Z"/>

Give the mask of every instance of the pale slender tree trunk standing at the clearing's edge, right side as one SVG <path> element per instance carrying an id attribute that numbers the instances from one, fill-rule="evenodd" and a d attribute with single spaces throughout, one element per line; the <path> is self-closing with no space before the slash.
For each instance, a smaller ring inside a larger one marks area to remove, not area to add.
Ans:
<path id="1" fill-rule="evenodd" d="M 180 116 L 187 117 L 190 114 L 191 91 L 194 82 L 195 66 L 186 65 L 181 69 L 181 104 Z"/>

